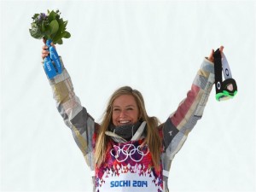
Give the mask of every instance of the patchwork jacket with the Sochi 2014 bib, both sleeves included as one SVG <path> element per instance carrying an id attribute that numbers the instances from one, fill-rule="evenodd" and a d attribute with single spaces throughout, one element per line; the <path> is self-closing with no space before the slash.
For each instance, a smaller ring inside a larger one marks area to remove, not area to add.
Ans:
<path id="1" fill-rule="evenodd" d="M 95 166 L 94 149 L 100 125 L 79 102 L 62 60 L 61 64 L 63 72 L 54 79 L 49 79 L 49 83 L 57 109 L 71 129 L 73 138 L 90 167 L 94 191 L 168 191 L 168 175 L 172 160 L 186 141 L 189 131 L 193 129 L 197 120 L 201 119 L 212 90 L 214 84 L 212 62 L 206 58 L 203 60 L 187 97 L 166 122 L 157 128 L 163 143 L 161 166 L 158 170 L 152 166 L 150 148 L 147 145 L 141 148 L 145 123 L 138 129 L 136 137 L 129 142 L 115 134 L 106 133 L 112 137 L 111 142 L 108 143 L 106 162 L 100 167 Z"/>

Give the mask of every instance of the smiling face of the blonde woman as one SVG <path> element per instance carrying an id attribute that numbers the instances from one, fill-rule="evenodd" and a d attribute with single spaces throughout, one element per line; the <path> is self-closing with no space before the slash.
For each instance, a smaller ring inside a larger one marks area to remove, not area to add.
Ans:
<path id="1" fill-rule="evenodd" d="M 123 95 L 113 101 L 113 125 L 131 125 L 138 120 L 138 107 L 133 96 Z"/>

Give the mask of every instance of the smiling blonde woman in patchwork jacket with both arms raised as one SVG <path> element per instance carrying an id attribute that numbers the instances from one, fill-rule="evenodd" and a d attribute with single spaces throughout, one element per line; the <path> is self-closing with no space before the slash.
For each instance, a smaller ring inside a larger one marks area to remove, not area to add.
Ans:
<path id="1" fill-rule="evenodd" d="M 42 58 L 48 54 L 44 41 Z M 129 86 L 113 93 L 97 124 L 80 104 L 61 64 L 63 72 L 49 82 L 57 108 L 90 166 L 94 191 L 168 191 L 172 160 L 201 119 L 214 84 L 213 49 L 187 97 L 163 124 L 148 116 L 142 94 Z"/>

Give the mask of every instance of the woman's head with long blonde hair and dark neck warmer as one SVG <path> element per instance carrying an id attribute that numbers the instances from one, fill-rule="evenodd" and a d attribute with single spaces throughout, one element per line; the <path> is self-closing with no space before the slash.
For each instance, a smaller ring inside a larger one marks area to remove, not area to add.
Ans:
<path id="1" fill-rule="evenodd" d="M 112 117 L 112 118 L 110 118 Z M 147 133 L 144 131 L 143 124 L 147 124 Z M 159 120 L 155 117 L 148 117 L 145 109 L 143 95 L 138 90 L 132 90 L 131 87 L 125 86 L 116 90 L 111 96 L 106 113 L 102 120 L 102 128 L 99 132 L 98 143 L 96 144 L 96 164 L 100 166 L 106 157 L 109 132 L 113 131 L 112 137 L 121 136 L 122 141 L 138 140 L 144 138 L 143 144 L 147 143 L 151 148 L 152 160 L 155 166 L 160 166 L 160 148 L 161 140 L 157 129 Z M 140 130 L 139 127 L 141 127 Z M 144 131 L 144 134 L 143 134 Z M 101 143 L 101 141 L 103 141 Z M 117 140 L 119 142 L 119 140 Z"/>

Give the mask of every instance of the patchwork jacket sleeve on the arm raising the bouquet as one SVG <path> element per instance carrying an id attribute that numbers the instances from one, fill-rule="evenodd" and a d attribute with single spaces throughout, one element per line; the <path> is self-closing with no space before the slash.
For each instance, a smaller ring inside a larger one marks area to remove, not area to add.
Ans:
<path id="1" fill-rule="evenodd" d="M 61 57 L 60 57 L 61 60 Z M 86 108 L 81 106 L 79 97 L 75 95 L 73 84 L 67 73 L 66 68 L 62 65 L 62 73 L 56 75 L 54 79 L 49 79 L 53 91 L 53 97 L 65 124 L 71 129 L 73 138 L 80 150 L 84 154 L 84 159 L 91 170 L 94 170 L 92 137 L 96 132 L 96 123 L 87 113 Z"/>

